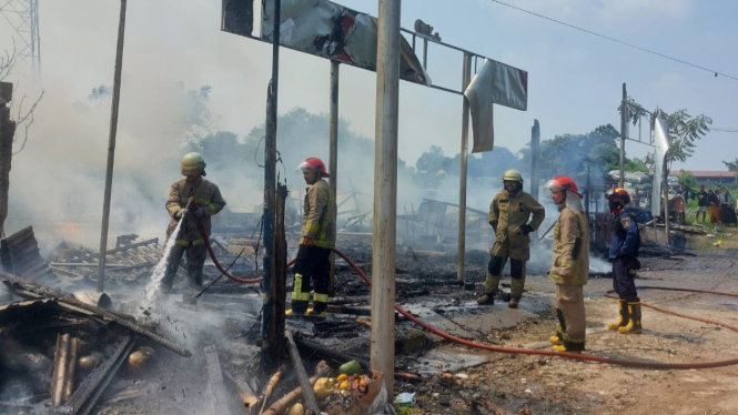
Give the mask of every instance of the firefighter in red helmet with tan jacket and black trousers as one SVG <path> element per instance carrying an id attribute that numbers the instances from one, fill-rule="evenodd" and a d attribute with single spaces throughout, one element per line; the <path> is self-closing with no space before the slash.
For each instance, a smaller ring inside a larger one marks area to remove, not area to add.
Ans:
<path id="1" fill-rule="evenodd" d="M 292 308 L 287 314 L 324 316 L 331 285 L 331 250 L 335 246 L 335 221 L 332 214 L 335 209 L 335 196 L 328 182 L 323 180 L 331 174 L 321 159 L 305 159 L 300 164 L 300 170 L 310 188 L 305 194 L 302 237 L 294 266 Z M 313 308 L 309 312 L 311 281 L 314 289 Z"/>

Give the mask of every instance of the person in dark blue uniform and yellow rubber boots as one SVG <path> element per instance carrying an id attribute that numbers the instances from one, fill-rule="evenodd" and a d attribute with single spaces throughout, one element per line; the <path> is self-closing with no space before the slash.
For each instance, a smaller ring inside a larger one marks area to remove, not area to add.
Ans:
<path id="1" fill-rule="evenodd" d="M 613 287 L 618 294 L 619 317 L 609 323 L 609 330 L 619 333 L 640 333 L 640 298 L 636 292 L 634 279 L 637 270 L 640 235 L 638 224 L 633 214 L 625 211 L 630 203 L 630 195 L 625 189 L 613 189 L 605 195 L 613 213 L 613 237 L 609 259 L 613 262 Z"/>

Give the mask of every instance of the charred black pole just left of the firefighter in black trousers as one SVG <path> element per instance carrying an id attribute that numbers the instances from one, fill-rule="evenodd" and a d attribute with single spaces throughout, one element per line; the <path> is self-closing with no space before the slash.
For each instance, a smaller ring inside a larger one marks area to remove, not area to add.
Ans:
<path id="1" fill-rule="evenodd" d="M 267 364 L 276 358 L 279 345 L 282 343 L 283 333 L 277 333 L 280 318 L 276 313 L 276 279 L 274 267 L 274 231 L 275 231 L 275 206 L 276 206 L 276 99 L 280 79 L 280 10 L 281 0 L 274 1 L 272 20 L 272 81 L 267 93 L 266 109 L 266 136 L 264 139 L 264 256 L 262 289 L 264 292 L 264 318 L 262 321 L 262 347 L 265 352 Z M 284 301 L 284 298 L 282 298 Z M 274 358 L 272 358 L 274 357 Z"/>

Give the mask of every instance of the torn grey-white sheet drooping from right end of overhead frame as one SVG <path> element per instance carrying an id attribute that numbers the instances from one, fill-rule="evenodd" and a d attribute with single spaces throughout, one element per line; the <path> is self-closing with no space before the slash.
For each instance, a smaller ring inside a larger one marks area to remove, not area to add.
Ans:
<path id="1" fill-rule="evenodd" d="M 469 102 L 473 153 L 491 151 L 495 142 L 493 104 L 526 111 L 528 72 L 485 59 L 482 68 L 464 91 Z"/>

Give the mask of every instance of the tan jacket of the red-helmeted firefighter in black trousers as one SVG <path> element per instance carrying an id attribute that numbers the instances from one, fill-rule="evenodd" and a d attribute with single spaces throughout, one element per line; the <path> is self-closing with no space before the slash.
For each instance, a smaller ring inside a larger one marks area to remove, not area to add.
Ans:
<path id="1" fill-rule="evenodd" d="M 304 243 L 305 237 L 312 237 L 315 246 L 324 249 L 335 246 L 335 220 L 332 214 L 334 202 L 333 190 L 325 180 L 319 180 L 307 188 L 300 244 Z"/>

